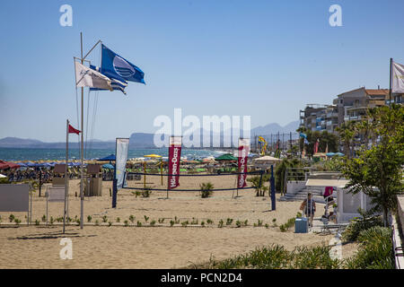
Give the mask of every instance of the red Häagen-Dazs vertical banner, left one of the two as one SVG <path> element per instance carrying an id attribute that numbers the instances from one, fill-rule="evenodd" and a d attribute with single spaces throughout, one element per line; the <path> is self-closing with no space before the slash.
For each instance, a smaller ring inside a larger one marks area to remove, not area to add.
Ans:
<path id="1" fill-rule="evenodd" d="M 182 136 L 171 136 L 169 146 L 168 189 L 180 186 L 180 159 Z M 176 176 L 178 174 L 178 176 Z"/>

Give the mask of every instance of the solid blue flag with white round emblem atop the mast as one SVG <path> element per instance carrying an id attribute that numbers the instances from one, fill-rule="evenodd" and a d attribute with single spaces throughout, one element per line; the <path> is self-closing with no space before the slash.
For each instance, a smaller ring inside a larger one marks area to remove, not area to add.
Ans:
<path id="1" fill-rule="evenodd" d="M 145 73 L 136 65 L 101 44 L 101 74 L 120 82 L 145 83 Z"/>

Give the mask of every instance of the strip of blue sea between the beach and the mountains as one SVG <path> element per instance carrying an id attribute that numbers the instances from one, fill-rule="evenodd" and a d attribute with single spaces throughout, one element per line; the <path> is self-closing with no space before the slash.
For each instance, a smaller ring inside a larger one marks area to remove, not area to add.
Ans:
<path id="1" fill-rule="evenodd" d="M 203 159 L 208 156 L 220 156 L 230 151 L 220 150 L 193 150 L 182 148 L 181 158 L 189 160 Z M 168 157 L 168 148 L 162 149 L 129 149 L 128 159 L 143 158 L 146 154 L 158 154 Z M 115 154 L 115 149 L 92 149 L 84 151 L 84 160 L 96 160 Z M 80 150 L 69 149 L 69 160 L 79 160 Z M 41 149 L 41 148 L 0 148 L 0 160 L 3 161 L 64 161 L 66 160 L 66 149 Z"/>

